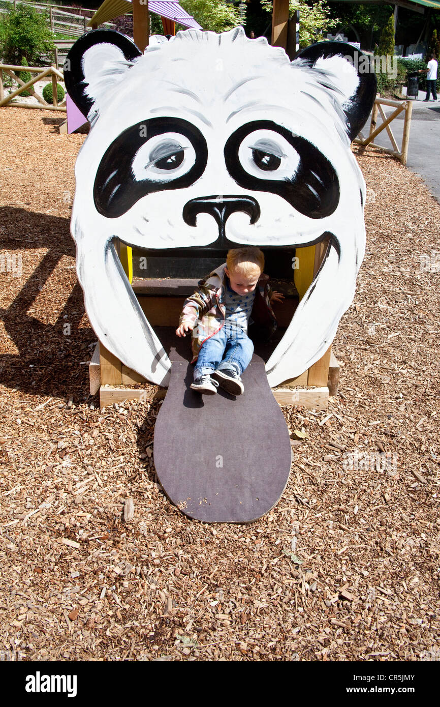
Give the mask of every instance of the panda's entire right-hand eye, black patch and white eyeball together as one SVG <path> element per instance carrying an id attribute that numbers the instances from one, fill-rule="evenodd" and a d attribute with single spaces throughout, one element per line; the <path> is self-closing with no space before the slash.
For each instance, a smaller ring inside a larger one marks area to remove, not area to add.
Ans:
<path id="1" fill-rule="evenodd" d="M 225 163 L 240 187 L 278 194 L 300 214 L 324 218 L 339 203 L 333 165 L 311 142 L 270 120 L 237 129 L 226 141 Z"/>

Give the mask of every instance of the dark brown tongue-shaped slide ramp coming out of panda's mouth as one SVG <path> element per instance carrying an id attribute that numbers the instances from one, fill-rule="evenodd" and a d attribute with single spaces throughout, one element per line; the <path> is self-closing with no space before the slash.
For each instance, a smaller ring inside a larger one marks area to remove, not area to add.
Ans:
<path id="1" fill-rule="evenodd" d="M 289 432 L 254 355 L 238 397 L 189 388 L 194 367 L 174 361 L 157 416 L 154 462 L 168 498 L 189 518 L 246 523 L 275 506 L 290 474 Z"/>

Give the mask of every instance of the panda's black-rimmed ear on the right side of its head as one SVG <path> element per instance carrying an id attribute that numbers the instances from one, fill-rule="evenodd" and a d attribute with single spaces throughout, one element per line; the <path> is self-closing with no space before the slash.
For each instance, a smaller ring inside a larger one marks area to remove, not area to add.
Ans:
<path id="1" fill-rule="evenodd" d="M 374 74 L 367 54 L 360 52 L 359 49 L 345 42 L 317 42 L 299 52 L 296 59 L 305 59 L 310 66 L 316 66 L 316 69 L 324 69 L 327 62 L 321 62 L 320 60 L 331 59 L 332 57 L 345 59 L 347 64 L 353 67 L 353 78 L 356 78 L 356 74 L 358 77 L 357 82 L 355 81 L 354 90 L 351 93 L 346 93 L 346 100 L 343 105 L 347 118 L 348 135 L 350 141 L 352 141 L 364 127 L 373 107 L 377 92 L 376 74 Z M 328 64 L 328 66 L 330 68 L 331 64 Z M 345 70 L 343 73 L 346 73 Z M 344 93 L 343 86 L 344 82 L 341 81 L 341 86 L 337 88 L 340 88 Z"/>

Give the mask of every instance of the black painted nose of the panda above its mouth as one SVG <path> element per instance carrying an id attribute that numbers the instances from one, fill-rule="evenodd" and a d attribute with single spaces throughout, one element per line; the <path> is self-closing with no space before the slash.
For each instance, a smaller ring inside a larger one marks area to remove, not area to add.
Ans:
<path id="1" fill-rule="evenodd" d="M 256 223 L 260 218 L 260 206 L 254 197 L 242 197 L 218 194 L 213 197 L 200 197 L 187 201 L 184 210 L 184 222 L 188 226 L 196 226 L 198 214 L 210 214 L 218 225 L 218 235 L 220 241 L 225 238 L 225 225 L 227 219 L 236 211 L 243 211 L 251 218 L 251 224 Z"/>

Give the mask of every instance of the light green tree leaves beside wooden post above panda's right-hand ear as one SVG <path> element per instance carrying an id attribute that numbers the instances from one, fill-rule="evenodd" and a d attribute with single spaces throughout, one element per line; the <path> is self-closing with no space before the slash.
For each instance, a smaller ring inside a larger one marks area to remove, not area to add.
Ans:
<path id="1" fill-rule="evenodd" d="M 261 0 L 261 7 L 267 12 L 273 11 L 273 0 Z M 323 0 L 289 0 L 289 17 L 299 10 L 299 46 L 309 47 L 319 42 L 340 22 L 331 18 L 328 6 Z"/>

